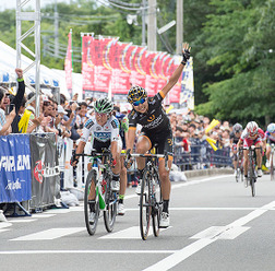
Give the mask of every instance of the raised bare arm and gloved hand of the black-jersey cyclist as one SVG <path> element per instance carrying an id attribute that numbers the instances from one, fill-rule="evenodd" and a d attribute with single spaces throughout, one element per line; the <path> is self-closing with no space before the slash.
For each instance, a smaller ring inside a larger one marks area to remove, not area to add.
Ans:
<path id="1" fill-rule="evenodd" d="M 190 50 L 191 50 L 191 47 L 189 47 L 189 44 L 182 45 L 182 61 L 178 66 L 176 71 L 172 73 L 172 75 L 170 76 L 168 83 L 162 90 L 162 93 L 164 94 L 164 96 L 166 96 L 167 93 L 172 89 L 172 86 L 178 82 L 178 80 L 182 73 L 183 68 L 190 58 Z"/>

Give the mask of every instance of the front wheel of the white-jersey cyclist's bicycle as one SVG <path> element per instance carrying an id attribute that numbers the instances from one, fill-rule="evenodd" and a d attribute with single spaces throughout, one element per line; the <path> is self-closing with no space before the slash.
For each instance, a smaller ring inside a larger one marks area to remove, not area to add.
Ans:
<path id="1" fill-rule="evenodd" d="M 91 184 L 94 181 L 96 184 L 96 173 L 91 170 L 86 178 L 85 185 L 85 193 L 84 193 L 84 216 L 85 216 L 85 224 L 89 235 L 94 235 L 96 232 L 96 226 L 99 217 L 99 201 L 98 197 L 95 198 L 95 221 L 93 224 L 89 223 L 89 203 L 88 203 L 88 195 L 91 189 Z"/>

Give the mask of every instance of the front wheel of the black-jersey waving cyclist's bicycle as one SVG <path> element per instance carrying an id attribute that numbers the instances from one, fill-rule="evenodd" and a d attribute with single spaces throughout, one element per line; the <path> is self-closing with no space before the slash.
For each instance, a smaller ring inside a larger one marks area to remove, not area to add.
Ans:
<path id="1" fill-rule="evenodd" d="M 150 223 L 152 217 L 152 204 L 151 204 L 151 187 L 150 187 L 150 170 L 145 168 L 140 195 L 140 231 L 143 240 L 146 240 L 150 232 Z"/>

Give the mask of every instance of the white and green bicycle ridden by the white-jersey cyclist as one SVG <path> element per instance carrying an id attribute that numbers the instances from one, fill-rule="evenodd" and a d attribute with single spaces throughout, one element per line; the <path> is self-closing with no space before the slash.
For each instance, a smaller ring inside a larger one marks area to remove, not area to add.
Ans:
<path id="1" fill-rule="evenodd" d="M 89 235 L 95 234 L 100 211 L 104 211 L 105 227 L 110 233 L 113 229 L 118 209 L 118 195 L 110 187 L 112 180 L 111 153 L 107 150 L 103 153 L 93 150 L 91 154 L 75 154 L 75 156 L 91 157 L 93 165 L 88 172 L 84 190 L 84 216 L 87 232 Z M 95 184 L 95 200 L 88 199 L 92 182 Z M 95 205 L 94 223 L 89 222 L 91 203 Z"/>

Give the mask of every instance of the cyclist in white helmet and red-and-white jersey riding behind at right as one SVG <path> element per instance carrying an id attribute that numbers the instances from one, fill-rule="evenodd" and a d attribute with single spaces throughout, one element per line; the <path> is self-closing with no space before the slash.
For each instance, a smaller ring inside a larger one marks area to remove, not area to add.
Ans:
<path id="1" fill-rule="evenodd" d="M 265 149 L 265 133 L 264 131 L 259 128 L 255 121 L 248 122 L 246 129 L 242 131 L 239 142 L 237 144 L 237 149 L 239 150 L 240 146 L 243 144 L 243 173 L 244 173 L 244 180 L 248 184 L 248 153 L 249 148 L 251 145 L 255 145 L 256 149 L 256 165 L 258 165 L 258 177 L 262 177 L 262 150 Z M 247 149 L 247 150 L 246 150 Z"/>

